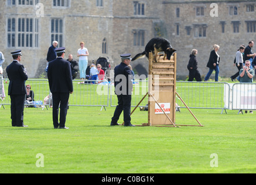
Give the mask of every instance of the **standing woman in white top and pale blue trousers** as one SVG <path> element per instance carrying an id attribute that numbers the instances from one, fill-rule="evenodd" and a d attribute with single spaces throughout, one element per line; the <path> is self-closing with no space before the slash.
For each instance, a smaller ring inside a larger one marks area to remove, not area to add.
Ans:
<path id="1" fill-rule="evenodd" d="M 79 71 L 80 79 L 84 80 L 86 77 L 86 68 L 88 65 L 89 52 L 86 47 L 84 47 L 84 42 L 80 42 L 81 48 L 77 51 L 77 57 L 79 57 Z"/>

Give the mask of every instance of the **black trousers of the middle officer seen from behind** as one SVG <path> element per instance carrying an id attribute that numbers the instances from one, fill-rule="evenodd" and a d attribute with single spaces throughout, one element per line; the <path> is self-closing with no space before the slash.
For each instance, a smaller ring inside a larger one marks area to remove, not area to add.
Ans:
<path id="1" fill-rule="evenodd" d="M 67 109 L 68 109 L 69 92 L 53 92 L 52 93 L 52 120 L 54 127 L 65 127 Z M 60 122 L 59 122 L 60 108 Z"/>

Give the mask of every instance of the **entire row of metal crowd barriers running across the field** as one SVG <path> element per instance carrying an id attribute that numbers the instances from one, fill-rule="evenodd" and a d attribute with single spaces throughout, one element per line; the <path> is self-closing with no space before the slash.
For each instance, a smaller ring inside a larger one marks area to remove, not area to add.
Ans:
<path id="1" fill-rule="evenodd" d="M 117 97 L 114 93 L 114 83 L 107 80 L 85 81 L 73 80 L 74 92 L 70 95 L 69 106 L 116 106 Z M 92 82 L 94 84 L 92 84 Z M 8 79 L 0 79 L 0 90 L 4 88 L 5 99 L 0 100 L 2 105 L 10 105 L 8 95 Z M 37 108 L 48 108 L 51 101 L 46 103 L 44 98 L 50 94 L 48 80 L 27 80 L 34 91 Z M 147 94 L 148 81 L 134 82 L 131 105 L 135 107 Z M 256 83 L 222 83 L 222 82 L 176 82 L 176 91 L 189 108 L 196 109 L 222 109 L 225 110 L 256 110 Z M 1 91 L 2 94 L 2 91 Z M 0 97 L 1 97 L 0 94 Z M 143 99 L 139 106 L 146 106 L 148 97 Z M 179 108 L 186 108 L 182 101 L 176 97 Z M 26 104 L 31 106 L 31 104 Z"/>

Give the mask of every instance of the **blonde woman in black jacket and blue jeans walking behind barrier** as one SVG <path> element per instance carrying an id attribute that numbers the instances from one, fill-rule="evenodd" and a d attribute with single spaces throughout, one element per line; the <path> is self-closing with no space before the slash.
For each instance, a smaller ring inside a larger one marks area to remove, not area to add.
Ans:
<path id="1" fill-rule="evenodd" d="M 215 71 L 215 82 L 218 82 L 218 77 L 219 77 L 219 55 L 217 51 L 219 50 L 218 45 L 214 45 L 214 49 L 210 53 L 210 57 L 207 63 L 207 68 L 209 68 L 209 72 L 204 78 L 204 82 L 207 82 L 208 79 L 211 76 L 211 73 Z"/>

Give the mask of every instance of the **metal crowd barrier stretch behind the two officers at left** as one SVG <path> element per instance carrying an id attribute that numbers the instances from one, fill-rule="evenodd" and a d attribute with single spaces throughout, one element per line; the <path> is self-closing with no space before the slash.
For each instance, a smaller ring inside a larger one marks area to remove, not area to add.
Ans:
<path id="1" fill-rule="evenodd" d="M 0 105 L 10 105 L 10 97 L 8 95 L 9 79 L 3 79 L 6 98 L 0 101 Z M 81 80 L 73 80 L 74 92 L 70 95 L 69 106 L 101 106 L 106 110 L 109 106 L 109 83 L 104 80 L 90 80 L 89 83 L 83 83 Z M 92 84 L 91 82 L 95 83 Z M 46 103 L 45 97 L 50 94 L 48 80 L 27 80 L 26 85 L 31 86 L 34 91 L 34 103 L 25 103 L 27 107 L 47 108 L 51 105 L 51 101 Z M 1 106 L 0 106 L 1 108 Z"/>

